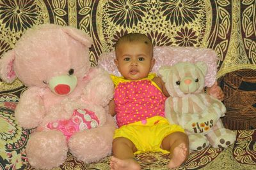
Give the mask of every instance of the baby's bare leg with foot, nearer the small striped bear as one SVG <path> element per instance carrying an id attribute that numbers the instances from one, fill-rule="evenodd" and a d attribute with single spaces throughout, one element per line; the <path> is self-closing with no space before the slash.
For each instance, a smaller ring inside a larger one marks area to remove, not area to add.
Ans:
<path id="1" fill-rule="evenodd" d="M 173 132 L 163 139 L 161 148 L 170 151 L 168 167 L 179 167 L 189 155 L 188 136 L 183 132 Z"/>

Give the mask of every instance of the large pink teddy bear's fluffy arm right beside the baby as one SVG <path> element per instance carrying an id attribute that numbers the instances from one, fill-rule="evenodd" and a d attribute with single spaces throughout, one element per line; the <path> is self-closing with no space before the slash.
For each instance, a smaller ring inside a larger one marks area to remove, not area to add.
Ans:
<path id="1" fill-rule="evenodd" d="M 88 83 L 83 89 L 83 99 L 106 107 L 113 98 L 114 84 L 107 71 L 93 67 L 86 77 Z"/>

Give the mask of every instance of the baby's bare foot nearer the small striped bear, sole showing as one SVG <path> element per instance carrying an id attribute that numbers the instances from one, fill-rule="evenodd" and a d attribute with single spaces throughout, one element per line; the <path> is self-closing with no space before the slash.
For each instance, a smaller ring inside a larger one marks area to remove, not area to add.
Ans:
<path id="1" fill-rule="evenodd" d="M 184 160 L 186 160 L 188 148 L 186 147 L 185 143 L 180 143 L 179 146 L 174 148 L 172 154 L 172 159 L 170 160 L 168 167 L 179 167 L 184 162 Z"/>

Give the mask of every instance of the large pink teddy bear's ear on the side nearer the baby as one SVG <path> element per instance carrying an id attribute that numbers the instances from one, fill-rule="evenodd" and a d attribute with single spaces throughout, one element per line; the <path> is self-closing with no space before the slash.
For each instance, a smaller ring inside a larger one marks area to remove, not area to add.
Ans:
<path id="1" fill-rule="evenodd" d="M 79 29 L 67 26 L 64 27 L 62 30 L 85 46 L 90 47 L 93 44 L 92 38 L 90 38 L 90 36 L 86 35 L 83 31 Z"/>

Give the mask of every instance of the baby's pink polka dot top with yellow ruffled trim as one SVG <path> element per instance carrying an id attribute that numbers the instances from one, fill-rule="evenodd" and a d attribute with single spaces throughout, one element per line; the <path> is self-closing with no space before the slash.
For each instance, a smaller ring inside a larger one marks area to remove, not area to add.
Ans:
<path id="1" fill-rule="evenodd" d="M 164 96 L 161 89 L 152 81 L 156 74 L 150 73 L 141 80 L 125 80 L 111 75 L 115 83 L 115 111 L 118 127 L 141 121 L 147 123 L 147 118 L 164 117 Z"/>

